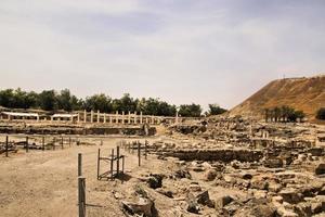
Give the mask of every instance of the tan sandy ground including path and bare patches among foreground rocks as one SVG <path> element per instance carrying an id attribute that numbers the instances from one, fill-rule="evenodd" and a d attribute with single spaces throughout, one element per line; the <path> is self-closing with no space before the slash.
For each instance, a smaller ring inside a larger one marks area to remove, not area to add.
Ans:
<path id="1" fill-rule="evenodd" d="M 25 140 L 24 137 L 11 136 L 10 138 L 15 141 Z M 140 141 L 145 139 L 153 142 L 159 138 L 136 138 Z M 4 141 L 4 137 L 0 137 L 0 140 Z M 101 140 L 103 145 L 100 145 Z M 142 165 L 139 167 L 135 152 L 130 154 L 121 149 L 121 154 L 127 156 L 127 178 L 113 181 L 96 179 L 98 150 L 101 149 L 102 155 L 108 156 L 110 150 L 116 148 L 120 140 L 128 140 L 128 138 L 82 137 L 80 141 L 92 142 L 93 145 L 78 146 L 73 143 L 72 146 L 65 144 L 63 150 L 56 146 L 55 151 L 29 150 L 29 153 L 26 153 L 20 150 L 16 154 L 11 153 L 10 157 L 0 155 L 0 216 L 77 216 L 78 153 L 82 153 L 82 176 L 86 177 L 87 186 L 87 216 L 125 216 L 120 208 L 120 201 L 130 199 L 138 184 L 155 199 L 155 207 L 159 210 L 158 216 L 195 216 L 185 212 L 184 207 L 181 208 L 183 202 L 168 199 L 145 184 L 145 177 L 152 173 L 168 177 L 179 169 L 179 165 L 173 159 L 161 161 L 150 155 L 147 159 L 142 157 Z M 104 170 L 109 170 L 109 165 L 102 163 L 102 171 Z M 172 190 L 174 197 L 183 197 L 192 181 L 197 181 L 208 190 L 212 199 L 238 193 L 202 180 L 202 174 L 191 174 L 193 180 L 164 179 L 164 188 Z M 203 214 L 203 216 L 216 216 L 216 210 L 207 208 Z"/>

